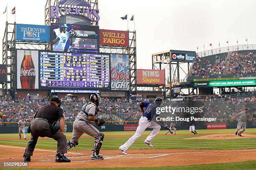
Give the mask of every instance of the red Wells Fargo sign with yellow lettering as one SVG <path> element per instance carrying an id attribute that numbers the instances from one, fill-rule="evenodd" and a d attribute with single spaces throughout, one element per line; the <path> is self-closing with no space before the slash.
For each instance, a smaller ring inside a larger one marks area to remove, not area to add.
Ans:
<path id="1" fill-rule="evenodd" d="M 100 30 L 100 45 L 129 46 L 129 32 Z"/>

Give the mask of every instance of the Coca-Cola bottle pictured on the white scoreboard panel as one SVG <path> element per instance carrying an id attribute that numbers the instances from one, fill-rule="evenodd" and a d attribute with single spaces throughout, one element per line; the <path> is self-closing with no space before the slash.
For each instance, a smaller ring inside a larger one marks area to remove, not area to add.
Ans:
<path id="1" fill-rule="evenodd" d="M 20 66 L 20 84 L 22 89 L 34 89 L 36 70 L 31 56 L 31 50 L 24 50 L 24 57 Z"/>

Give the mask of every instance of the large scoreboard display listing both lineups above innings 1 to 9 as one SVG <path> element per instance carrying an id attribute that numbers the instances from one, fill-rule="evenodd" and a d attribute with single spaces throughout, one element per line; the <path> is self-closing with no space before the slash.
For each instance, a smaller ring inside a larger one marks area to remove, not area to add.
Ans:
<path id="1" fill-rule="evenodd" d="M 39 51 L 41 89 L 109 90 L 110 55 Z"/>

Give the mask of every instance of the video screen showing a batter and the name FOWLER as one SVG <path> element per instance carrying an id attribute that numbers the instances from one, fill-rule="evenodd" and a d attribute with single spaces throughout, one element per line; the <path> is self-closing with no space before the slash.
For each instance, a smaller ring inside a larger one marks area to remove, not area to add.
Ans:
<path id="1" fill-rule="evenodd" d="M 99 52 L 99 27 L 52 23 L 51 49 L 55 52 Z"/>

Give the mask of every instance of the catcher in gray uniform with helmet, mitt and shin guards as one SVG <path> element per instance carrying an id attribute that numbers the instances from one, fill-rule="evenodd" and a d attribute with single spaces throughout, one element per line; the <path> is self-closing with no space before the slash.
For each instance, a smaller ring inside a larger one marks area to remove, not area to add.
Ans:
<path id="1" fill-rule="evenodd" d="M 67 142 L 67 150 L 78 145 L 78 140 L 82 134 L 86 133 L 95 138 L 93 150 L 92 150 L 92 160 L 102 160 L 102 155 L 99 155 L 102 141 L 104 139 L 104 134 L 100 133 L 97 128 L 95 128 L 91 122 L 95 122 L 96 125 L 101 126 L 105 123 L 105 120 L 98 120 L 95 118 L 97 112 L 99 112 L 99 102 L 100 95 L 97 93 L 91 93 L 90 102 L 83 105 L 81 111 L 76 117 L 73 124 L 72 138 Z"/>

